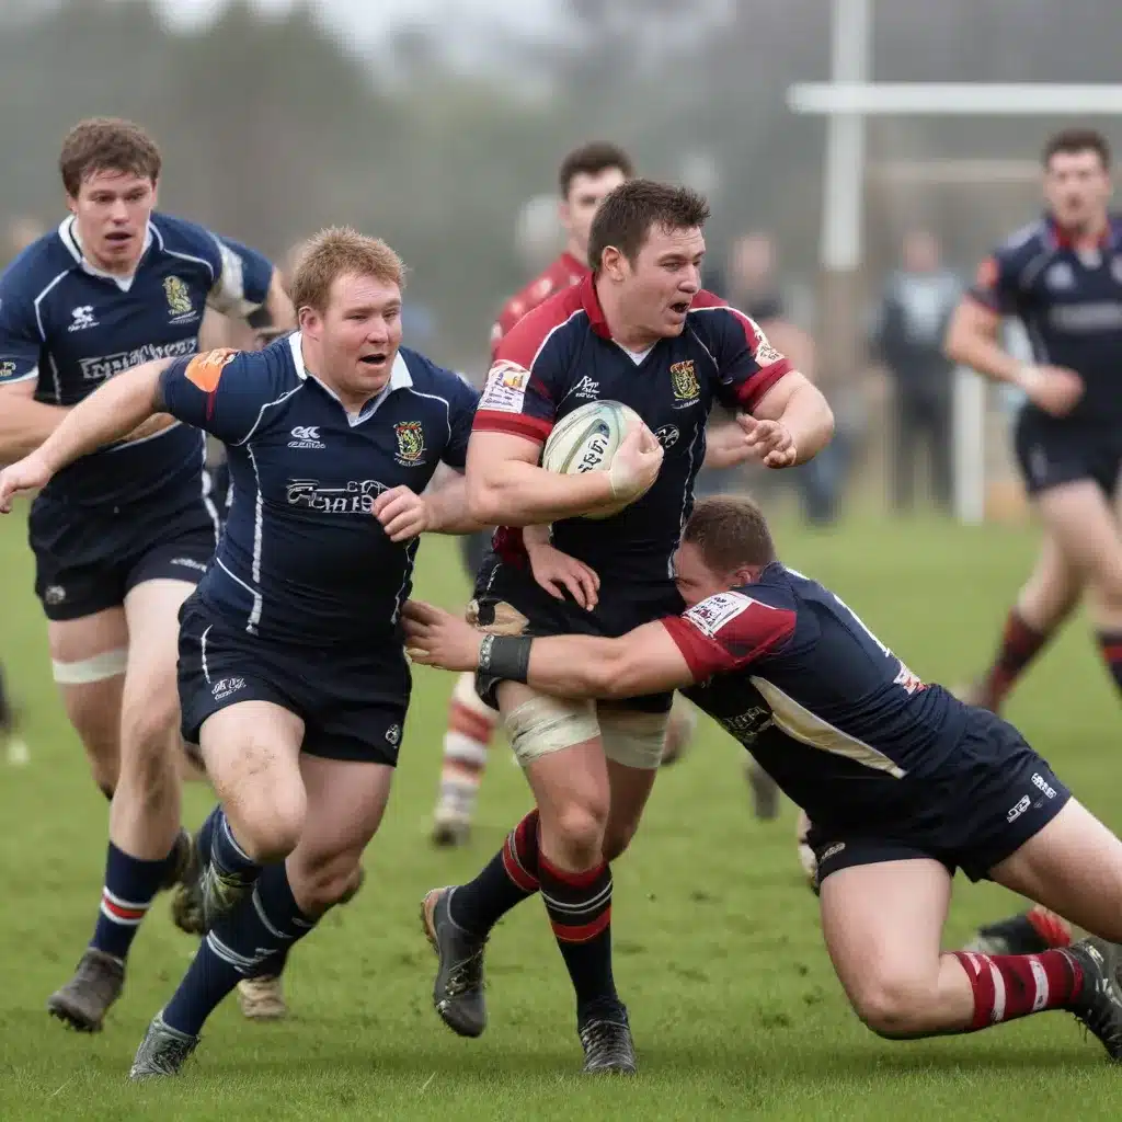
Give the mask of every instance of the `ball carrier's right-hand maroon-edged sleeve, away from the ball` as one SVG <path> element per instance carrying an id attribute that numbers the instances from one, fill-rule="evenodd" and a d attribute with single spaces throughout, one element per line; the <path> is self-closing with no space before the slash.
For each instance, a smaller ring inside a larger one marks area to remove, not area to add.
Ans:
<path id="1" fill-rule="evenodd" d="M 728 408 L 751 413 L 756 403 L 793 367 L 751 316 L 709 292 L 693 297 L 690 312 L 717 366 L 717 398 Z"/>

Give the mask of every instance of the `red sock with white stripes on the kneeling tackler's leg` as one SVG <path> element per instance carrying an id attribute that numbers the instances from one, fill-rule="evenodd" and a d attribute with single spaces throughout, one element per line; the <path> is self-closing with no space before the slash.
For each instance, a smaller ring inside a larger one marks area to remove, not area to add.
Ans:
<path id="1" fill-rule="evenodd" d="M 1083 969 L 1066 950 L 1039 955 L 959 950 L 955 957 L 974 991 L 974 1019 L 967 1032 L 1048 1009 L 1069 1009 L 1083 988 Z"/>

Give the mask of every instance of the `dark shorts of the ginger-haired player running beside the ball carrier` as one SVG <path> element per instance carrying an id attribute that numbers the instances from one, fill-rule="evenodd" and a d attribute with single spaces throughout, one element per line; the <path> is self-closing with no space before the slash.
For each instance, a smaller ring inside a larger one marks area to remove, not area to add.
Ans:
<path id="1" fill-rule="evenodd" d="M 263 640 L 223 624 L 196 594 L 180 609 L 178 680 L 187 744 L 220 709 L 272 701 L 304 721 L 310 755 L 397 763 L 411 684 L 401 643 L 371 651 Z"/>

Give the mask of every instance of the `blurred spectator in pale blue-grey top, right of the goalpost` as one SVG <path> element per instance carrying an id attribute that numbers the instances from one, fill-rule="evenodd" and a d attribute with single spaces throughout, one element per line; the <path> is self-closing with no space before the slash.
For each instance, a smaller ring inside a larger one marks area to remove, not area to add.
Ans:
<path id="1" fill-rule="evenodd" d="M 904 237 L 901 267 L 885 285 L 873 330 L 872 350 L 893 383 L 893 438 L 890 462 L 892 505 L 914 506 L 920 444 L 928 448 L 931 495 L 949 512 L 953 503 L 951 405 L 954 365 L 942 353 L 942 337 L 962 292 L 944 268 L 939 242 L 926 230 Z"/>

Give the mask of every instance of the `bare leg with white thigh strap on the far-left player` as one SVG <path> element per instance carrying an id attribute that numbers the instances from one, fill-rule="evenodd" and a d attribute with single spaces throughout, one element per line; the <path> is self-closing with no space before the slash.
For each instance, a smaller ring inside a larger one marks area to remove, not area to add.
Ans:
<path id="1" fill-rule="evenodd" d="M 47 623 L 50 665 L 63 708 L 77 733 L 94 783 L 107 799 L 120 769 L 121 690 L 129 629 L 122 608 Z"/>

